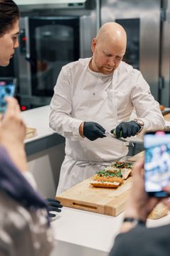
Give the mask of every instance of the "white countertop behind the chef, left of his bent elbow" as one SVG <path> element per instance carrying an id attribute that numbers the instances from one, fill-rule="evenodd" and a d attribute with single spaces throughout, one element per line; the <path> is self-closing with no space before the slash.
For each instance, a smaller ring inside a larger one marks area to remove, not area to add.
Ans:
<path id="1" fill-rule="evenodd" d="M 27 127 L 37 130 L 35 137 L 26 139 L 25 142 L 32 142 L 35 139 L 40 139 L 55 133 L 49 127 L 50 105 L 23 111 L 21 115 Z"/>

